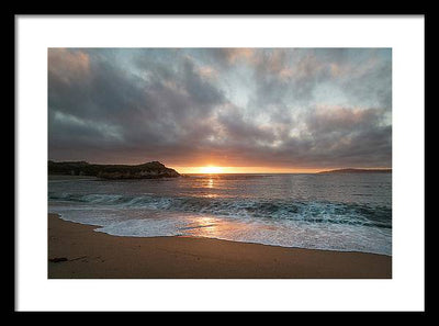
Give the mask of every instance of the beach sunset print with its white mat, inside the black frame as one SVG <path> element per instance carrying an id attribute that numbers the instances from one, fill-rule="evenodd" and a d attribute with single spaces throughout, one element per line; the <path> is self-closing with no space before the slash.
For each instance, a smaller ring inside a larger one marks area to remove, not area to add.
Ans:
<path id="1" fill-rule="evenodd" d="M 18 310 L 424 310 L 423 15 L 15 20 Z"/>

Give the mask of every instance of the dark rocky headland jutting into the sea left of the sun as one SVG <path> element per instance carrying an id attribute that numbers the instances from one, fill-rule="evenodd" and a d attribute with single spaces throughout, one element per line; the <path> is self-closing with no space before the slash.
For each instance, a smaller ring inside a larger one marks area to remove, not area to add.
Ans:
<path id="1" fill-rule="evenodd" d="M 176 178 L 180 173 L 165 167 L 159 161 L 150 161 L 136 166 L 94 165 L 87 161 L 48 161 L 49 175 L 92 176 L 102 179 L 156 179 Z"/>

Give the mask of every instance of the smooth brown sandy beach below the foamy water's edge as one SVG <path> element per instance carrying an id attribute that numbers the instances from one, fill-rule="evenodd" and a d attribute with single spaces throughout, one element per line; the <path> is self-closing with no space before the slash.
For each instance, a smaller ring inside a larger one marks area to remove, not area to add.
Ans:
<path id="1" fill-rule="evenodd" d="M 384 255 L 212 238 L 120 237 L 95 228 L 48 214 L 49 279 L 392 278 L 392 257 Z"/>

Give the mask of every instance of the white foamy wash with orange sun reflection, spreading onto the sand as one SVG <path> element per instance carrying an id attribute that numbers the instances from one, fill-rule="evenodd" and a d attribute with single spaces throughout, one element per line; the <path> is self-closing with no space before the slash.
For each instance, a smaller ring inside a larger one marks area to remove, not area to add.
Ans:
<path id="1" fill-rule="evenodd" d="M 100 226 L 115 236 L 193 236 L 272 246 L 392 255 L 392 229 L 362 225 L 255 220 L 158 212 L 52 206 L 66 221 Z"/>

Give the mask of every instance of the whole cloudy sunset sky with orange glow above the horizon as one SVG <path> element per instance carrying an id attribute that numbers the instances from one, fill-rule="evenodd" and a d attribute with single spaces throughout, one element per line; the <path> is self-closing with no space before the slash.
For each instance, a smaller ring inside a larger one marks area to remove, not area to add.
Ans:
<path id="1" fill-rule="evenodd" d="M 389 168 L 392 50 L 50 48 L 48 156 L 180 172 Z"/>

